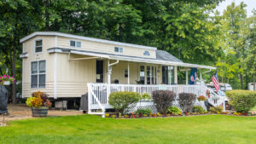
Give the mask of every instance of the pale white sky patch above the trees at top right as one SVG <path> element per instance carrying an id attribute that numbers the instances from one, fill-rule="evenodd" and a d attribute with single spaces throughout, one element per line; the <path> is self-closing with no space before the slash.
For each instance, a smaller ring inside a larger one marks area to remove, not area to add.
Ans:
<path id="1" fill-rule="evenodd" d="M 218 11 L 223 14 L 224 9 L 227 8 L 228 5 L 230 5 L 232 2 L 235 2 L 236 5 L 238 5 L 239 3 L 243 2 L 247 4 L 247 16 L 252 16 L 252 10 L 255 9 L 256 10 L 256 0 L 225 0 L 222 3 L 218 4 Z"/>

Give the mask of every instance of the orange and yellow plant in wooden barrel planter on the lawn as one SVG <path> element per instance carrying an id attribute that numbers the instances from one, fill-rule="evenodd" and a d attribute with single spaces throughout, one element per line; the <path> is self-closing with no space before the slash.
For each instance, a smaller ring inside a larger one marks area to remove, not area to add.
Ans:
<path id="1" fill-rule="evenodd" d="M 38 91 L 32 93 L 32 97 L 26 99 L 26 106 L 32 107 L 32 117 L 46 117 L 51 102 L 48 99 L 48 95 Z"/>

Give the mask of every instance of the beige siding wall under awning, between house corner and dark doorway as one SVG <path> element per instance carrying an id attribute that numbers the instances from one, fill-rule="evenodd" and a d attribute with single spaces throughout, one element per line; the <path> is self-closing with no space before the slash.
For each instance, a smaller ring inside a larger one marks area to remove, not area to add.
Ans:
<path id="1" fill-rule="evenodd" d="M 79 55 L 72 55 L 78 58 Z M 57 54 L 57 96 L 80 97 L 87 92 L 87 83 L 96 81 L 96 60 L 69 60 Z"/>

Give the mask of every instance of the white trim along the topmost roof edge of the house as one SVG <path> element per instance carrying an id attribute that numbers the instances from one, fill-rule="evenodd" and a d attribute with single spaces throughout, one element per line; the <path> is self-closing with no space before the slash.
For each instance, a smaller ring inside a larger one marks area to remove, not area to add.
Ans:
<path id="1" fill-rule="evenodd" d="M 70 37 L 70 38 L 77 38 L 77 39 L 82 39 L 82 40 L 87 40 L 87 41 L 92 41 L 92 42 L 109 43 L 109 44 L 113 44 L 113 45 L 134 47 L 134 48 L 140 48 L 140 49 L 153 49 L 153 50 L 157 49 L 155 47 L 148 47 L 148 46 L 144 46 L 144 45 L 137 45 L 137 44 L 131 44 L 131 43 L 120 43 L 120 42 L 109 41 L 109 40 L 105 40 L 105 39 L 99 39 L 99 38 L 93 38 L 93 37 L 83 37 L 83 36 L 77 36 L 77 35 L 61 33 L 61 32 L 33 32 L 32 34 L 21 38 L 20 43 L 23 43 L 26 40 L 28 40 L 32 37 L 38 36 L 38 35 L 40 35 L 40 36 Z"/>

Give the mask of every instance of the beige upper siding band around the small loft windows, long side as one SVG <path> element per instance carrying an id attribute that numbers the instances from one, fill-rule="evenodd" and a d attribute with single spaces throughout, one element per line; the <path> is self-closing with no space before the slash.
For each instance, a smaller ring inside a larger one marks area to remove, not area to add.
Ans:
<path id="1" fill-rule="evenodd" d="M 81 41 L 82 47 L 81 48 L 70 47 L 70 40 Z M 58 47 L 67 48 L 67 49 L 89 50 L 89 51 L 96 51 L 96 52 L 109 53 L 109 54 L 115 54 L 115 55 L 129 55 L 129 56 L 155 58 L 155 51 L 153 49 L 124 47 L 124 46 L 113 45 L 108 43 L 91 42 L 87 40 L 79 40 L 79 39 L 73 39 L 68 37 L 58 37 Z M 114 52 L 114 47 L 122 47 L 124 52 L 122 54 L 116 53 Z M 150 56 L 143 55 L 143 52 L 145 50 L 148 50 L 148 52 L 150 53 Z"/>

